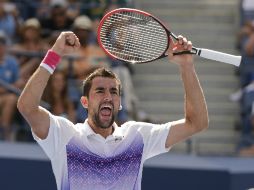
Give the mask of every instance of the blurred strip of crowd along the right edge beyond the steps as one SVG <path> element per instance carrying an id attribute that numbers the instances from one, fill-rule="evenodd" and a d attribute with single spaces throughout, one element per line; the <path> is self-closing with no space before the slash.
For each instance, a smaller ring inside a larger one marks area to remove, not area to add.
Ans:
<path id="1" fill-rule="evenodd" d="M 237 129 L 241 139 L 237 146 L 240 155 L 254 156 L 254 1 L 240 0 L 240 27 L 237 48 L 242 55 L 238 70 L 240 89 L 230 95 L 240 103 L 241 114 Z"/>

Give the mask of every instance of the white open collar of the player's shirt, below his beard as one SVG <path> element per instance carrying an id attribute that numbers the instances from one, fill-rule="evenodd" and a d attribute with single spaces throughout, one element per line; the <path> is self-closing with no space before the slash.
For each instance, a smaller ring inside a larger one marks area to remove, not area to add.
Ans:
<path id="1" fill-rule="evenodd" d="M 120 127 L 114 122 L 113 123 L 113 128 L 114 128 L 114 132 L 112 135 L 108 136 L 108 138 L 114 138 L 114 140 L 122 140 L 124 135 L 122 133 L 122 130 L 120 130 Z M 92 136 L 96 136 L 98 134 L 96 134 L 94 132 L 94 130 L 90 127 L 90 125 L 88 124 L 88 119 L 85 120 L 84 122 L 84 132 L 85 132 L 85 135 L 89 138 L 89 137 L 92 137 Z"/>

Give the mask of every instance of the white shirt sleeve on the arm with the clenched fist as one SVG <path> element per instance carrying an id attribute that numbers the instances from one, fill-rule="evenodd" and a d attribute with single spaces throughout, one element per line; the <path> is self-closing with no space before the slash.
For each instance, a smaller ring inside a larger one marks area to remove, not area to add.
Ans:
<path id="1" fill-rule="evenodd" d="M 34 139 L 42 147 L 47 156 L 52 160 L 63 148 L 75 133 L 74 124 L 66 118 L 54 116 L 50 112 L 50 127 L 48 136 L 40 139 L 32 131 Z"/>

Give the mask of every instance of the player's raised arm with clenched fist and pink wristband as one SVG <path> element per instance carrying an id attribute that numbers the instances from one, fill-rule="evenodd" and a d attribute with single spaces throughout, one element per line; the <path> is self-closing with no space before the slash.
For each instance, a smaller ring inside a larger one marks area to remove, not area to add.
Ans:
<path id="1" fill-rule="evenodd" d="M 79 46 L 79 39 L 73 32 L 62 32 L 18 99 L 18 110 L 41 139 L 47 137 L 50 125 L 48 113 L 39 106 L 43 91 L 60 58 L 76 51 Z"/>

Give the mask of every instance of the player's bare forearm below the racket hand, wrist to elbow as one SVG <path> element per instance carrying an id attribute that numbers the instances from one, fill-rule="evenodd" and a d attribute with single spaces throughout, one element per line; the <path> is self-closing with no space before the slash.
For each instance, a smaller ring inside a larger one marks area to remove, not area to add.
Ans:
<path id="1" fill-rule="evenodd" d="M 208 111 L 194 65 L 180 66 L 180 72 L 185 89 L 185 119 L 202 130 L 208 126 Z"/>

